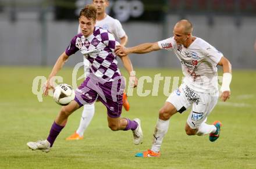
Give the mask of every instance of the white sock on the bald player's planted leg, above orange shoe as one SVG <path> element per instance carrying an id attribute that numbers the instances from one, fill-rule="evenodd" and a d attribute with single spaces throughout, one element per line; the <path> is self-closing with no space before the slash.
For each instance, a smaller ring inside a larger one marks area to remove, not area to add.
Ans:
<path id="1" fill-rule="evenodd" d="M 160 151 L 163 137 L 165 136 L 169 128 L 169 122 L 170 120 L 161 120 L 161 119 L 158 119 L 157 121 L 157 126 L 155 127 L 155 132 L 154 132 L 153 145 L 151 148 L 151 150 L 155 153 Z"/>

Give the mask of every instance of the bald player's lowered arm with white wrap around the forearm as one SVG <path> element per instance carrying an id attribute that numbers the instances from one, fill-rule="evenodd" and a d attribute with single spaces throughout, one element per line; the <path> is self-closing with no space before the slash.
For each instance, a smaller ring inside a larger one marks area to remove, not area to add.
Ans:
<path id="1" fill-rule="evenodd" d="M 226 59 L 226 57 L 222 57 L 221 60 L 218 63 L 219 66 L 222 66 L 223 68 L 223 79 L 222 79 L 222 86 L 221 86 L 221 96 L 223 102 L 225 102 L 230 97 L 230 82 L 232 80 L 232 66 L 229 60 Z"/>

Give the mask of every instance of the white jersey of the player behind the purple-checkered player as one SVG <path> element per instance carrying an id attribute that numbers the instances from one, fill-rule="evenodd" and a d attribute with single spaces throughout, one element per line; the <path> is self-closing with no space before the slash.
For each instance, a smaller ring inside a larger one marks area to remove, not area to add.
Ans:
<path id="1" fill-rule="evenodd" d="M 123 30 L 123 27 L 119 20 L 113 19 L 113 17 L 107 15 L 102 20 L 96 21 L 96 26 L 104 28 L 104 30 L 108 30 L 110 33 L 112 33 L 115 38 L 120 39 L 122 37 L 125 37 L 126 33 L 125 30 Z M 78 27 L 77 34 L 81 33 L 80 26 Z M 84 71 L 88 72 L 90 67 L 90 63 L 86 58 L 84 58 Z"/>

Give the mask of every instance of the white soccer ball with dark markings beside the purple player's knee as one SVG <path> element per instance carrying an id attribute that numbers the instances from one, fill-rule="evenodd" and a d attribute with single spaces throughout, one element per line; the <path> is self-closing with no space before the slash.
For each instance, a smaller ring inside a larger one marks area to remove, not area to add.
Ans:
<path id="1" fill-rule="evenodd" d="M 66 106 L 74 100 L 74 89 L 67 84 L 59 84 L 54 88 L 54 101 L 59 105 Z"/>

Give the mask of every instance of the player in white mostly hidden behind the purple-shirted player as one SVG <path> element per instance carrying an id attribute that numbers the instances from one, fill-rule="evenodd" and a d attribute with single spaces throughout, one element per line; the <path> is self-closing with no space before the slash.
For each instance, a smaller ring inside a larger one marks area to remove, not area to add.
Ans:
<path id="1" fill-rule="evenodd" d="M 106 14 L 106 8 L 109 5 L 108 0 L 93 0 L 93 5 L 97 8 L 97 19 L 96 19 L 96 26 L 102 27 L 105 30 L 108 30 L 110 33 L 115 35 L 116 38 L 120 39 L 121 45 L 127 44 L 127 35 L 122 28 L 122 25 L 119 20 L 113 19 L 111 16 Z M 80 26 L 78 28 L 78 33 L 81 33 Z M 123 58 L 123 62 L 127 62 L 125 64 L 129 67 L 125 67 L 130 75 L 134 74 L 132 64 L 130 62 L 129 57 Z M 84 58 L 84 74 L 87 75 L 90 67 L 90 62 Z M 137 79 L 135 80 L 135 85 L 137 85 Z M 130 105 L 127 100 L 126 93 L 123 95 L 123 107 L 125 107 L 126 111 L 129 111 Z M 83 112 L 81 114 L 81 120 L 79 124 L 79 128 L 74 132 L 74 134 L 70 135 L 66 138 L 66 140 L 79 140 L 83 139 L 84 131 L 90 124 L 91 120 L 93 119 L 95 113 L 95 104 L 91 105 L 84 105 Z"/>

